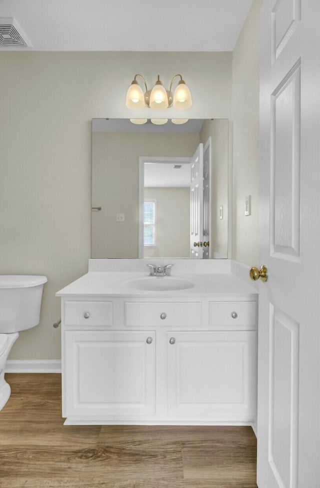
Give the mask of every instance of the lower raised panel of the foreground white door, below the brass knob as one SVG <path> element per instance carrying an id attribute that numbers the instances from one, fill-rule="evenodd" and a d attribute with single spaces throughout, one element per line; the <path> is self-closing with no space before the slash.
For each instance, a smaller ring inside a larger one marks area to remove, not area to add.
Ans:
<path id="1" fill-rule="evenodd" d="M 268 462 L 279 488 L 297 488 L 299 324 L 269 305 Z"/>

